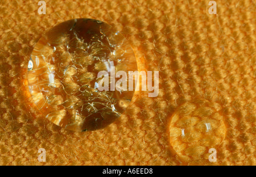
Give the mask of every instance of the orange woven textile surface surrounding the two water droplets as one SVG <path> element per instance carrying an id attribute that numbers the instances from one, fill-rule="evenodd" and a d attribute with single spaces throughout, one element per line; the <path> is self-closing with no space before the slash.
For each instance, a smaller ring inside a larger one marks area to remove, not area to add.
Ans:
<path id="1" fill-rule="evenodd" d="M 38 2 L 0 0 L 0 165 L 255 165 L 254 0 L 217 0 L 217 15 L 199 0 L 46 1 L 46 15 Z M 27 91 L 36 41 L 74 18 L 111 24 L 130 41 L 139 69 L 159 71 L 156 98 L 138 91 L 117 121 L 93 132 L 50 123 Z M 197 100 L 224 120 L 217 162 L 209 154 L 187 160 L 170 141 L 171 117 Z"/>

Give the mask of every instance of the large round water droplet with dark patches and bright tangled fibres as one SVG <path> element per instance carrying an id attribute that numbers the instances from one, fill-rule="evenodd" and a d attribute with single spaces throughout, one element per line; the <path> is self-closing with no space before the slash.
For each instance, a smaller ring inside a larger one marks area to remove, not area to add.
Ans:
<path id="1" fill-rule="evenodd" d="M 137 70 L 133 49 L 121 33 L 93 19 L 60 23 L 32 51 L 28 62 L 32 99 L 60 127 L 76 131 L 104 128 L 125 111 L 134 94 L 98 90 L 102 82 L 98 73 L 105 71 L 110 79 L 113 66 L 115 73 Z"/>

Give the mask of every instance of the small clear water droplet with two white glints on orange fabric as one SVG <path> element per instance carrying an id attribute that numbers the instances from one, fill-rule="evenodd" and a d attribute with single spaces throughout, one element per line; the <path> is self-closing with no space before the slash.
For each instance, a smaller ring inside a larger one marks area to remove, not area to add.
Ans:
<path id="1" fill-rule="evenodd" d="M 207 149 L 221 145 L 226 128 L 223 117 L 205 99 L 186 102 L 170 118 L 170 144 L 182 161 L 204 159 Z"/>

